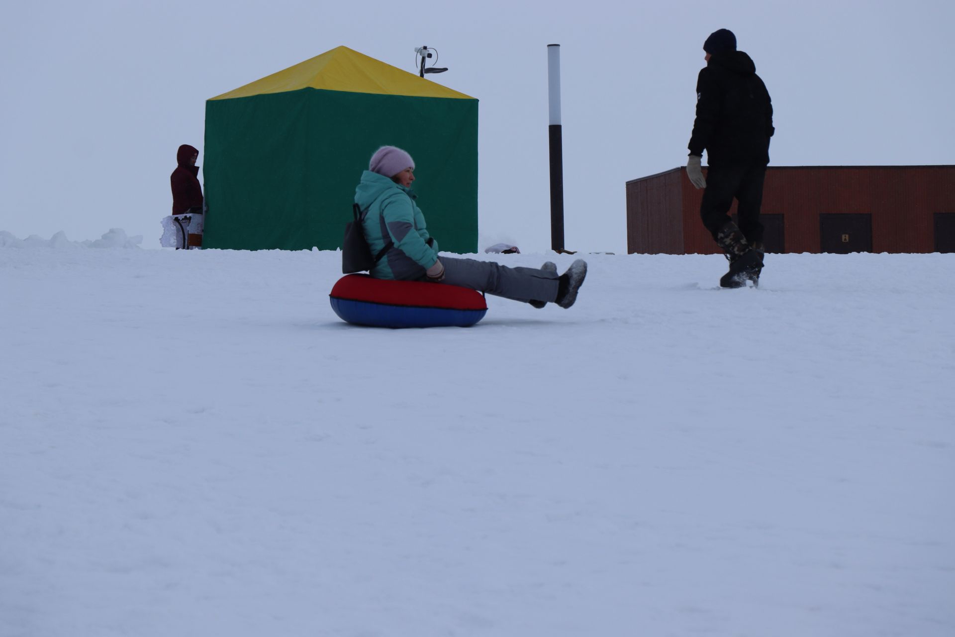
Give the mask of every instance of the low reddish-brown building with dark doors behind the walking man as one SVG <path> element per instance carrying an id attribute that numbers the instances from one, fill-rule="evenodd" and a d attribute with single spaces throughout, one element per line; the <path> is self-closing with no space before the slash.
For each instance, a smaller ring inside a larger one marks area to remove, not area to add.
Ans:
<path id="1" fill-rule="evenodd" d="M 719 252 L 702 199 L 683 167 L 627 181 L 626 251 Z M 768 252 L 955 252 L 955 165 L 770 166 L 761 221 Z"/>

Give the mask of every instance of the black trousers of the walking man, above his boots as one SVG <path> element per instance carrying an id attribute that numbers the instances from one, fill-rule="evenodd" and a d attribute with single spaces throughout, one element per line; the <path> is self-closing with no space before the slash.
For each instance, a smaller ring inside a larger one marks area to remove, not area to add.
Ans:
<path id="1" fill-rule="evenodd" d="M 739 201 L 736 208 L 736 225 L 746 237 L 748 244 L 763 240 L 763 224 L 759 223 L 759 208 L 763 204 L 763 179 L 766 177 L 766 164 L 753 162 L 731 164 L 728 166 L 710 166 L 707 169 L 707 188 L 703 191 L 700 204 L 700 218 L 710 230 L 713 239 L 723 224 L 730 221 L 727 214 L 732 200 Z"/>

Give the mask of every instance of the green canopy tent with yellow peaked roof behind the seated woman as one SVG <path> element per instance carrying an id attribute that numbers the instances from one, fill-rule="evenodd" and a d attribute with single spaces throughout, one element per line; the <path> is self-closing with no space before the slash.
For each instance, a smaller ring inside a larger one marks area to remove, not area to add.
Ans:
<path id="1" fill-rule="evenodd" d="M 380 146 L 404 148 L 428 229 L 477 251 L 477 99 L 338 47 L 205 102 L 204 247 L 336 249 Z"/>

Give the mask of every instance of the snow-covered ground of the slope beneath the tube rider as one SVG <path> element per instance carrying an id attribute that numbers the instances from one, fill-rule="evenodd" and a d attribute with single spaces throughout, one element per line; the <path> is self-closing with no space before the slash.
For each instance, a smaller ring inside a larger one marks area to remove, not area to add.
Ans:
<path id="1" fill-rule="evenodd" d="M 0 236 L 4 637 L 955 634 L 955 255 L 388 330 L 136 240 Z"/>

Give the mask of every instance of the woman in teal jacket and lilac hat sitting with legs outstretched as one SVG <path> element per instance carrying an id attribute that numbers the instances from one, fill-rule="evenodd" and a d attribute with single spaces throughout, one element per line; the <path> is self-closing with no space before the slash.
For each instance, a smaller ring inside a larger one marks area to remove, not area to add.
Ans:
<path id="1" fill-rule="evenodd" d="M 393 246 L 371 268 L 375 279 L 432 281 L 470 287 L 543 308 L 555 303 L 569 308 L 577 300 L 587 265 L 578 259 L 562 275 L 547 262 L 541 269 L 507 267 L 475 259 L 437 257 L 437 242 L 428 234 L 421 209 L 414 202 L 414 159 L 394 146 L 382 146 L 371 156 L 369 170 L 355 188 L 355 203 L 367 211 L 362 222 L 371 254 L 388 242 Z"/>

